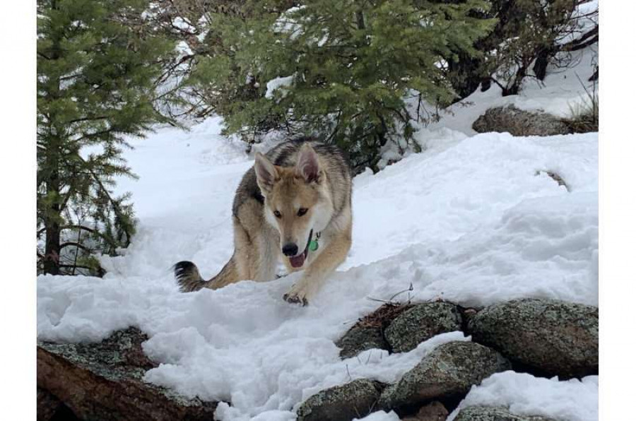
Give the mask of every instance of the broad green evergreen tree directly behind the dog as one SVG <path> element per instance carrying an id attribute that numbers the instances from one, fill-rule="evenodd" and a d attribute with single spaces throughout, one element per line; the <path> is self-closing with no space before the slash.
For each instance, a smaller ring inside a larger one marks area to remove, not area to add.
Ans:
<path id="1" fill-rule="evenodd" d="M 201 58 L 189 84 L 244 93 L 214 109 L 228 133 L 319 136 L 348 150 L 357 169 L 374 167 L 387 142 L 411 140 L 417 116 L 406 98 L 454 98 L 444 58 L 477 54 L 474 42 L 493 25 L 474 13 L 488 8 L 481 0 L 300 3 L 254 19 L 213 16 L 214 42 L 226 48 Z M 266 95 L 278 77 L 287 85 Z"/>

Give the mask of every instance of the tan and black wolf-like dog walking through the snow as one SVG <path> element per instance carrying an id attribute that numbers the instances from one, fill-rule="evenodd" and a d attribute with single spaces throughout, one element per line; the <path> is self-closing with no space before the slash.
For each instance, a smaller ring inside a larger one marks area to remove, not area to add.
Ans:
<path id="1" fill-rule="evenodd" d="M 312 299 L 351 248 L 351 169 L 336 146 L 302 138 L 256 153 L 232 205 L 234 254 L 220 273 L 203 280 L 194 263 L 174 266 L 184 292 L 239 280 L 276 278 L 278 261 L 304 270 L 283 299 Z"/>

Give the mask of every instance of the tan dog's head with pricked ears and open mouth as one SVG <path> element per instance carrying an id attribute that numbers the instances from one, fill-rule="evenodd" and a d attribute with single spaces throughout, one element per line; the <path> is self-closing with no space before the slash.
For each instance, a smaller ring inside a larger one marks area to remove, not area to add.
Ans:
<path id="1" fill-rule="evenodd" d="M 280 234 L 281 251 L 291 266 L 301 268 L 312 231 L 323 230 L 334 212 L 319 156 L 305 143 L 294 167 L 279 167 L 257 153 L 254 170 L 265 197 L 266 218 Z"/>

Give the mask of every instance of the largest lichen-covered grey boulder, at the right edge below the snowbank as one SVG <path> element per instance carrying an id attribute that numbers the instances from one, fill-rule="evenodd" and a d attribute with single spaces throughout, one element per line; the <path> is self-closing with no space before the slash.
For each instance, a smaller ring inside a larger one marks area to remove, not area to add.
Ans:
<path id="1" fill-rule="evenodd" d="M 599 309 L 560 300 L 512 300 L 486 307 L 469 321 L 478 343 L 540 374 L 599 372 Z"/>

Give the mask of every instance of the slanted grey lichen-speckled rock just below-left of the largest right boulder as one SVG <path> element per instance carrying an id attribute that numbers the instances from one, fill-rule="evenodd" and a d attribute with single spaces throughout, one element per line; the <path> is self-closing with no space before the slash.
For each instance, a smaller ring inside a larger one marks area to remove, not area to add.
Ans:
<path id="1" fill-rule="evenodd" d="M 473 342 L 449 342 L 435 348 L 380 396 L 381 408 L 398 409 L 464 395 L 473 384 L 510 369 L 499 352 Z"/>

